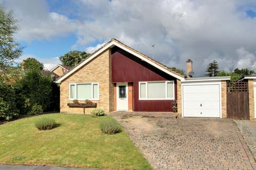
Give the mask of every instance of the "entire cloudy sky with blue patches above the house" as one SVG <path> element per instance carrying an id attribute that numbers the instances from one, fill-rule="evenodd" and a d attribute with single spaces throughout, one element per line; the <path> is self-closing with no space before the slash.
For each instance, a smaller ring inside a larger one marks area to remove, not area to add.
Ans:
<path id="1" fill-rule="evenodd" d="M 195 75 L 218 61 L 220 70 L 256 70 L 255 0 L 0 0 L 19 20 L 20 58 L 45 69 L 70 50 L 92 53 L 111 38 Z M 154 49 L 151 47 L 155 44 Z"/>

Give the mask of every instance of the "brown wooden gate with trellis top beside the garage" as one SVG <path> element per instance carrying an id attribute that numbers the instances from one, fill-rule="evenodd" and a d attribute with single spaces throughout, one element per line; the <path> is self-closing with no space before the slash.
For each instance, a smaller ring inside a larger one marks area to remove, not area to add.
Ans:
<path id="1" fill-rule="evenodd" d="M 227 118 L 249 120 L 248 82 L 227 82 Z"/>

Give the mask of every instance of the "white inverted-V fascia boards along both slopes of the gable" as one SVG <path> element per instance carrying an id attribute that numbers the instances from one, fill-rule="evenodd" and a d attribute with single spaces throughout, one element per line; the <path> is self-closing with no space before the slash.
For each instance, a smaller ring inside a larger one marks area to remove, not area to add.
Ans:
<path id="1" fill-rule="evenodd" d="M 111 47 L 113 47 L 113 46 L 117 46 L 117 47 L 119 47 L 119 48 L 125 50 L 126 52 L 129 52 L 129 53 L 131 53 L 132 55 L 137 56 L 137 57 L 140 58 L 141 60 L 143 60 L 143 61 L 145 61 L 145 62 L 147 62 L 147 63 L 149 63 L 149 64 L 155 66 L 157 69 L 159 69 L 159 70 L 161 70 L 161 71 L 163 71 L 163 72 L 165 72 L 165 73 L 171 75 L 171 76 L 174 77 L 174 78 L 177 78 L 177 79 L 179 79 L 179 80 L 181 80 L 181 81 L 185 81 L 185 78 L 180 77 L 179 75 L 174 74 L 174 73 L 170 72 L 169 70 L 164 69 L 163 67 L 161 67 L 161 66 L 155 64 L 154 62 L 151 62 L 151 61 L 148 60 L 147 58 L 145 58 L 145 57 L 143 57 L 143 56 L 141 56 L 141 55 L 139 55 L 139 54 L 133 52 L 132 50 L 130 50 L 130 49 L 128 49 L 128 48 L 126 48 L 126 47 L 124 47 L 124 46 L 118 44 L 118 43 L 116 43 L 115 41 L 112 41 L 111 43 L 109 43 L 108 45 L 106 45 L 105 47 L 103 47 L 102 49 L 100 49 L 97 53 L 95 53 L 95 54 L 93 54 L 91 57 L 87 58 L 87 59 L 86 59 L 85 61 L 83 61 L 81 64 L 77 65 L 73 70 L 71 70 L 71 71 L 68 72 L 67 74 L 63 75 L 63 77 L 61 77 L 59 80 L 55 81 L 55 83 L 61 83 L 61 81 L 62 81 L 63 79 L 65 79 L 65 78 L 67 78 L 70 74 L 74 73 L 76 70 L 78 70 L 79 68 L 81 68 L 83 65 L 85 65 L 86 63 L 88 63 L 89 61 L 91 61 L 94 57 L 98 56 L 100 53 L 102 53 L 102 52 L 105 51 L 106 49 L 111 48 Z"/>

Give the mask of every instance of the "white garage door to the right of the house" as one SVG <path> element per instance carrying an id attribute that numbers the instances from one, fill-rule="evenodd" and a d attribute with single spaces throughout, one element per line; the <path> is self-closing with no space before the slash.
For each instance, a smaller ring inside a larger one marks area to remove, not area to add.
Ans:
<path id="1" fill-rule="evenodd" d="M 183 85 L 184 117 L 220 117 L 220 85 Z"/>

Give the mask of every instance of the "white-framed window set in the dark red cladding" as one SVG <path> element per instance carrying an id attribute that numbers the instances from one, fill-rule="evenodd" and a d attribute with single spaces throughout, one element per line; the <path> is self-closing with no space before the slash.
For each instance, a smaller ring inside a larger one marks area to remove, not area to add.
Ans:
<path id="1" fill-rule="evenodd" d="M 140 100 L 173 100 L 174 81 L 139 82 Z"/>

